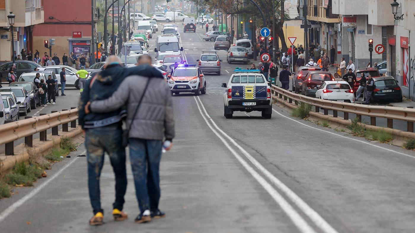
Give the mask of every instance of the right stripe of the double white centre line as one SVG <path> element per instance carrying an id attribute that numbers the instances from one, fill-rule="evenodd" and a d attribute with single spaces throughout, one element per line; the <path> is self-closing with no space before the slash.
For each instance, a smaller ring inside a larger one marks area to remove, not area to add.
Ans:
<path id="1" fill-rule="evenodd" d="M 198 99 L 200 101 L 199 96 Z M 212 118 L 210 118 L 209 114 L 207 114 L 207 111 L 205 109 L 205 106 L 203 106 L 202 101 L 200 101 L 200 103 L 203 107 L 203 110 L 205 111 L 205 114 L 209 117 L 210 121 L 212 122 L 212 125 L 214 125 L 215 128 L 222 133 L 222 135 L 224 135 L 230 142 L 232 142 L 232 144 L 234 144 L 240 151 L 242 151 L 242 153 L 249 159 L 249 161 L 251 161 L 251 163 L 253 163 L 256 166 L 256 168 L 259 169 L 259 171 L 264 173 L 264 175 L 267 178 L 269 178 L 274 185 L 281 189 L 287 195 L 287 197 L 291 199 L 291 201 L 295 203 L 297 207 L 300 208 L 304 212 L 304 214 L 306 214 L 316 224 L 316 226 L 320 227 L 320 229 L 324 232 L 337 233 L 337 231 L 332 226 L 330 226 L 330 224 L 327 223 L 314 209 L 312 209 L 307 203 L 305 203 L 303 199 L 298 197 L 298 195 L 295 194 L 295 192 L 288 188 L 284 183 L 282 183 L 281 180 L 278 180 L 278 178 L 276 178 L 268 170 L 266 170 L 266 168 L 264 168 L 264 166 L 262 166 L 261 163 L 256 161 L 256 159 L 254 159 L 254 157 L 251 156 L 251 154 L 249 154 L 244 148 L 239 146 L 239 144 L 237 144 L 232 137 L 229 137 L 229 135 L 223 132 L 223 130 L 221 130 L 212 120 Z"/>

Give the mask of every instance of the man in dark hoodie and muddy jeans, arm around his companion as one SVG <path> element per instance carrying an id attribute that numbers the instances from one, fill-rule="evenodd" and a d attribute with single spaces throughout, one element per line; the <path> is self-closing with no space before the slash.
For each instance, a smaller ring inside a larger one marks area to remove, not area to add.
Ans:
<path id="1" fill-rule="evenodd" d="M 100 175 L 104 164 L 104 153 L 110 156 L 115 173 L 115 202 L 112 204 L 112 215 L 115 221 L 127 219 L 122 209 L 124 195 L 127 190 L 127 173 L 125 168 L 125 148 L 122 146 L 122 119 L 127 111 L 120 106 L 106 113 L 85 112 L 89 101 L 107 99 L 117 91 L 127 76 L 132 74 L 144 77 L 163 78 L 163 75 L 152 66 L 136 66 L 125 69 L 117 56 L 107 58 L 104 70 L 85 83 L 79 102 L 79 124 L 85 130 L 85 147 L 88 162 L 88 190 L 94 216 L 90 225 L 103 224 L 103 209 L 100 201 Z"/>

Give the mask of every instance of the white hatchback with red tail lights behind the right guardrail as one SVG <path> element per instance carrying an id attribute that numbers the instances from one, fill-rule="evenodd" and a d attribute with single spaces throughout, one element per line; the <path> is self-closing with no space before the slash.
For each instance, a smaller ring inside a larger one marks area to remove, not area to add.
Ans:
<path id="1" fill-rule="evenodd" d="M 315 93 L 316 98 L 354 103 L 354 92 L 346 81 L 325 81 Z"/>

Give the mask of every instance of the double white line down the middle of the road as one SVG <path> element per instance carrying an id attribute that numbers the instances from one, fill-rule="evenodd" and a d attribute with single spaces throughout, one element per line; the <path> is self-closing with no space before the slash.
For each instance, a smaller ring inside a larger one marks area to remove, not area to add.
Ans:
<path id="1" fill-rule="evenodd" d="M 325 233 L 337 233 L 337 231 L 330 226 L 314 209 L 308 206 L 298 195 L 296 195 L 290 188 L 288 188 L 281 180 L 278 180 L 274 175 L 272 175 L 266 168 L 264 168 L 254 157 L 252 157 L 244 148 L 237 144 L 232 137 L 229 137 L 223 130 L 221 130 L 216 123 L 210 118 L 210 115 L 207 113 L 205 106 L 202 101 L 200 101 L 199 96 L 194 96 L 200 114 L 205 120 L 207 126 L 212 130 L 213 133 L 225 144 L 225 146 L 231 151 L 235 158 L 242 164 L 242 166 L 247 169 L 247 171 L 255 178 L 258 183 L 264 187 L 264 189 L 271 195 L 271 197 L 276 201 L 276 203 L 283 209 L 283 211 L 288 215 L 288 217 L 293 221 L 294 225 L 298 228 L 300 232 L 316 232 L 310 224 L 298 213 L 298 211 L 278 192 L 282 192 L 298 209 L 302 211 L 302 214 L 307 216 L 312 223 L 315 224 L 321 231 Z M 226 140 L 227 139 L 227 140 Z M 242 156 L 229 145 L 229 142 L 237 147 L 242 154 L 248 159 L 250 163 L 247 163 Z M 262 173 L 259 174 L 254 167 Z M 263 176 L 269 179 L 267 181 Z M 275 187 L 278 188 L 278 191 Z"/>

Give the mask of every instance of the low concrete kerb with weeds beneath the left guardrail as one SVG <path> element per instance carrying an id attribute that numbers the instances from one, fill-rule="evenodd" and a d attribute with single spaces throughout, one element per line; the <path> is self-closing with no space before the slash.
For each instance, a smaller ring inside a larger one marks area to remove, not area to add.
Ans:
<path id="1" fill-rule="evenodd" d="M 81 127 L 77 127 L 74 130 L 70 132 L 62 132 L 59 131 L 58 136 L 52 136 L 52 134 L 48 134 L 47 138 L 49 139 L 46 142 L 41 142 L 39 139 L 34 139 L 34 142 L 39 143 L 39 146 L 32 147 L 32 150 L 34 153 L 43 153 L 51 148 L 53 148 L 56 145 L 59 145 L 61 143 L 62 137 L 76 137 L 82 133 Z M 34 145 L 36 145 L 34 143 Z M 9 155 L 9 156 L 0 156 L 0 177 L 4 176 L 7 172 L 9 172 L 16 163 L 19 163 L 21 161 L 28 161 L 29 160 L 29 154 L 27 153 L 27 148 L 25 147 L 24 143 L 19 144 L 15 147 L 16 152 L 15 155 Z"/>

